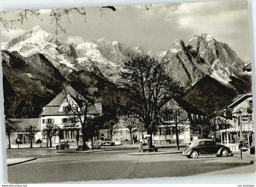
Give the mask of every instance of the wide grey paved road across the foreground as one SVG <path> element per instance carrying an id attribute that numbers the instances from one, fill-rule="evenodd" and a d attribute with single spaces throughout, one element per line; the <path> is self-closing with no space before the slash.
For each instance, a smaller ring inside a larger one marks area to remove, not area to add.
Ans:
<path id="1" fill-rule="evenodd" d="M 40 150 L 38 150 L 40 151 Z M 133 150 L 134 151 L 134 150 Z M 118 178 L 173 177 L 233 171 L 244 168 L 254 172 L 235 157 L 205 156 L 188 159 L 180 154 L 126 155 L 130 151 L 106 151 L 87 154 L 56 154 L 47 152 L 28 163 L 9 166 L 10 183 L 68 182 L 109 180 Z M 231 170 L 230 170 L 231 169 Z"/>

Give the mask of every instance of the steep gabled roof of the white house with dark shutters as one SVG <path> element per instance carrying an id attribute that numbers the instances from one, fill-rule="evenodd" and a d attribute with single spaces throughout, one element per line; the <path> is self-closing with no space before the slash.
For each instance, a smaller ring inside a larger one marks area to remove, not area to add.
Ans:
<path id="1" fill-rule="evenodd" d="M 60 92 L 50 103 L 46 104 L 43 109 L 43 112 L 40 116 L 48 116 L 48 115 L 72 115 L 67 114 L 66 112 L 59 111 L 60 105 L 66 100 L 66 95 L 70 95 L 76 102 L 79 102 L 77 98 L 84 98 L 82 95 L 78 94 L 76 90 L 73 89 L 71 86 L 66 86 L 65 89 Z M 97 103 L 95 101 L 94 105 L 89 106 L 88 114 L 102 114 L 102 105 L 101 103 Z"/>

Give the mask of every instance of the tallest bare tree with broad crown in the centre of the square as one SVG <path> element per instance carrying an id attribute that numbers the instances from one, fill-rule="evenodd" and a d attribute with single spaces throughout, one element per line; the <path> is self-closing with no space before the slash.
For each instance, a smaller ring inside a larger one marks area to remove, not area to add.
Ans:
<path id="1" fill-rule="evenodd" d="M 169 100 L 183 95 L 183 88 L 166 72 L 164 63 L 149 56 L 137 56 L 124 64 L 119 85 L 129 90 L 132 102 L 126 103 L 126 113 L 133 115 L 151 135 L 160 123 L 160 110 Z"/>

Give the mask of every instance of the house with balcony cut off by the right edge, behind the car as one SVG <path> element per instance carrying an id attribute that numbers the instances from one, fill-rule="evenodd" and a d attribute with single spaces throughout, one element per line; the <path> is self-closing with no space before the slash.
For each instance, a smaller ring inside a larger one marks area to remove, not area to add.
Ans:
<path id="1" fill-rule="evenodd" d="M 252 92 L 237 95 L 227 106 L 225 115 L 230 118 L 230 127 L 219 131 L 221 143 L 238 151 L 240 140 L 248 147 L 254 143 L 254 115 Z"/>

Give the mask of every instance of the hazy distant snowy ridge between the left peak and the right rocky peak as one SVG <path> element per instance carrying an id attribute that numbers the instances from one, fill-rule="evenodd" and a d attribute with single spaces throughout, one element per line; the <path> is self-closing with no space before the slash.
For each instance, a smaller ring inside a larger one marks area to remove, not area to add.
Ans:
<path id="1" fill-rule="evenodd" d="M 130 47 L 118 41 L 87 40 L 81 44 L 74 45 L 77 60 L 88 58 L 98 66 L 103 75 L 115 82 L 124 62 L 129 61 L 133 56 L 144 53 L 141 47 Z"/>

